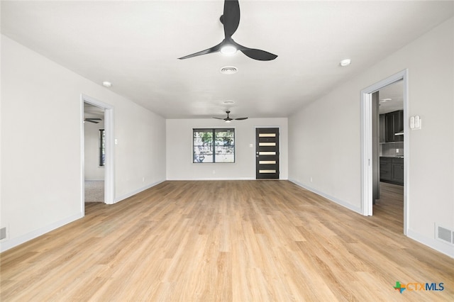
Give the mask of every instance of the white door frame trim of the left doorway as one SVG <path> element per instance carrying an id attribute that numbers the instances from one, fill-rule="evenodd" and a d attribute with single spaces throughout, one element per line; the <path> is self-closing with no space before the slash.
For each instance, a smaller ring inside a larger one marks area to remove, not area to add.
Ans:
<path id="1" fill-rule="evenodd" d="M 82 214 L 85 213 L 85 135 L 84 135 L 84 103 L 104 108 L 104 130 L 106 138 L 106 160 L 104 166 L 104 203 L 113 204 L 115 196 L 115 135 L 114 135 L 114 107 L 90 96 L 81 94 L 81 175 L 82 175 Z"/>

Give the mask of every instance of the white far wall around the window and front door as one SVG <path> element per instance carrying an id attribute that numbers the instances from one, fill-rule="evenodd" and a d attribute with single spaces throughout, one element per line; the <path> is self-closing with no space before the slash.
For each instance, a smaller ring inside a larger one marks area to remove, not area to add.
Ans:
<path id="1" fill-rule="evenodd" d="M 287 118 L 249 118 L 230 124 L 213 118 L 167 120 L 167 179 L 255 179 L 255 128 L 260 127 L 279 128 L 279 178 L 287 179 Z M 235 128 L 236 162 L 192 163 L 193 128 Z"/>

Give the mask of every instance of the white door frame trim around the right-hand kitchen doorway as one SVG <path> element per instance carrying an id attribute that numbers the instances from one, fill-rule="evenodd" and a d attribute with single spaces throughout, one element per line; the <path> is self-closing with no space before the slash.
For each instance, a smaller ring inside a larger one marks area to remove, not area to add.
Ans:
<path id="1" fill-rule="evenodd" d="M 372 94 L 402 80 L 404 86 L 404 234 L 409 221 L 409 123 L 408 69 L 361 90 L 361 211 L 372 216 Z"/>

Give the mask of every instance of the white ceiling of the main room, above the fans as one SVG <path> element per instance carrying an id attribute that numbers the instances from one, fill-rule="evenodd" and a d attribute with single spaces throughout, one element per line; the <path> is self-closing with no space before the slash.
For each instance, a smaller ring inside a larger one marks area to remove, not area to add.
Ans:
<path id="1" fill-rule="evenodd" d="M 279 55 L 269 62 L 177 60 L 221 42 L 223 0 L 1 1 L 1 33 L 165 118 L 286 117 L 453 16 L 453 4 L 240 0 L 233 38 Z M 219 72 L 228 65 L 238 73 Z"/>

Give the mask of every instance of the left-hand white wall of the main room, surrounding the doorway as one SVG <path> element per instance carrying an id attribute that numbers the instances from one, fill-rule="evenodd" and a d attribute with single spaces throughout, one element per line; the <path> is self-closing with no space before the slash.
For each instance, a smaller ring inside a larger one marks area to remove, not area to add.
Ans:
<path id="1" fill-rule="evenodd" d="M 114 107 L 115 200 L 165 180 L 164 118 L 1 35 L 1 251 L 83 216 L 81 94 Z"/>

